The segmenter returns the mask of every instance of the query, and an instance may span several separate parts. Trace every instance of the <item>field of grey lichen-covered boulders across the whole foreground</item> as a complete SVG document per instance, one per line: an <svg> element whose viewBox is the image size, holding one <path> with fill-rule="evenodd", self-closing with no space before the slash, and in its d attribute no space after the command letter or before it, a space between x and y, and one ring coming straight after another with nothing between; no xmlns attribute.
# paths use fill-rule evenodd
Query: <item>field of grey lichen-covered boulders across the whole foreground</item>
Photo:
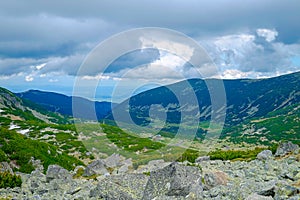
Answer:
<svg viewBox="0 0 300 200"><path fill-rule="evenodd" d="M156 160L137 170L130 159L113 154L74 172L51 165L45 175L37 167L21 174L21 188L0 189L0 199L299 200L299 160L299 147L292 143L281 144L275 155L265 150L250 162Z"/></svg>

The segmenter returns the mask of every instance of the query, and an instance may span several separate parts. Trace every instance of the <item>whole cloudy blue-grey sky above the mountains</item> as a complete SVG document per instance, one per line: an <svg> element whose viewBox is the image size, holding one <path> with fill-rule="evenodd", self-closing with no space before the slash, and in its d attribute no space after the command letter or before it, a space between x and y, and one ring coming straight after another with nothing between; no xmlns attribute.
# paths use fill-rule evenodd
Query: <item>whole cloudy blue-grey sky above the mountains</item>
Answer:
<svg viewBox="0 0 300 200"><path fill-rule="evenodd" d="M78 77L97 45L143 27L192 38L218 69L211 77L268 78L300 71L299 9L298 0L0 1L0 86L71 95L75 79L82 78L101 85L82 96L110 101L119 85L123 92L113 101L120 102L182 76L194 78L186 73L193 67L186 60L156 48L128 52L103 74Z"/></svg>

